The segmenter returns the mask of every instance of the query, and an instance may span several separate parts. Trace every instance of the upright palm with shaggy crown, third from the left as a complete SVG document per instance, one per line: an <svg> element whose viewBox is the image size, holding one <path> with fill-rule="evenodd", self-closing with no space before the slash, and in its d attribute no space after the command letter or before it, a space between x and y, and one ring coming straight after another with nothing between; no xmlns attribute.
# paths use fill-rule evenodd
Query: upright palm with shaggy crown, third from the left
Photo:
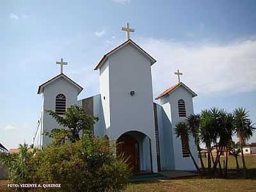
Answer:
<svg viewBox="0 0 256 192"><path fill-rule="evenodd" d="M211 143L214 140L214 130L212 129L212 118L211 113L209 110L204 109L201 112L201 118L200 118L200 141L202 143L205 143L205 146L207 147L207 157L208 157L208 169L211 169ZM212 157L213 161L213 157Z"/></svg>

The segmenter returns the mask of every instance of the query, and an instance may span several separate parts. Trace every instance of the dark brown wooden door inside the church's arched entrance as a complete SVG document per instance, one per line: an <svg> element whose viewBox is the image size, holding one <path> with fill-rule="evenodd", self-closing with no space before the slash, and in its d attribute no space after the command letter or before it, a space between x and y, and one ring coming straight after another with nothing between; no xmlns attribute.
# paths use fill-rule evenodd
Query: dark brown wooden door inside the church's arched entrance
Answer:
<svg viewBox="0 0 256 192"><path fill-rule="evenodd" d="M138 171L140 169L138 141L132 136L124 134L117 140L117 143L117 153L123 154L133 172Z"/></svg>

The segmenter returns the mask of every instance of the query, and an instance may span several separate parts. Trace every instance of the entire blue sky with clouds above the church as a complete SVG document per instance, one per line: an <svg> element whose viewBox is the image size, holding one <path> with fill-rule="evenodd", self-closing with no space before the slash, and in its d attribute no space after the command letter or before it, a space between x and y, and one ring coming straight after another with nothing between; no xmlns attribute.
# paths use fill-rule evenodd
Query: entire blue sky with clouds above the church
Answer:
<svg viewBox="0 0 256 192"><path fill-rule="evenodd" d="M256 122L255 1L22 1L0 2L0 143L32 143L42 102L38 85L64 72L99 93L93 67L105 52L131 38L157 63L154 96L182 81L198 93L195 112L243 106ZM256 142L254 135L251 142Z"/></svg>

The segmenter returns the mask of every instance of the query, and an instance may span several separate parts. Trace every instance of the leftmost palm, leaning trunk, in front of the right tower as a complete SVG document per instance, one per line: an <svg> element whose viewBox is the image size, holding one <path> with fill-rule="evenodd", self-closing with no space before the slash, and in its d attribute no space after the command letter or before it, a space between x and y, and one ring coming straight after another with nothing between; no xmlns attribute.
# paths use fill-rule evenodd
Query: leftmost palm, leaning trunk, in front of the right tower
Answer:
<svg viewBox="0 0 256 192"><path fill-rule="evenodd" d="M174 132L176 134L176 138L180 138L181 142L184 143L185 147L188 149L189 155L191 157L191 159L193 160L193 163L195 164L196 170L198 171L198 173L200 172L200 169L195 161L195 158L193 157L193 155L191 154L191 150L189 148L189 127L185 122L179 122L175 125L175 129Z"/></svg>

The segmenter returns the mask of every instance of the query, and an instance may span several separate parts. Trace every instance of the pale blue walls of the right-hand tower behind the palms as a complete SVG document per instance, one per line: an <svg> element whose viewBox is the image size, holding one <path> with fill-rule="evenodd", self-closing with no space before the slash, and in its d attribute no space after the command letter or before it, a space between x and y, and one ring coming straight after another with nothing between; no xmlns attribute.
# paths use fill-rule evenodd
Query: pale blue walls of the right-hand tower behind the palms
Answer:
<svg viewBox="0 0 256 192"><path fill-rule="evenodd" d="M179 116L179 99L183 99L185 102L186 115L189 116L190 114L194 114L192 95L188 92L188 90L186 90L182 86L180 86L179 88L177 88L177 90L171 92L169 95L161 99L164 112L166 113L166 116L168 116L172 124L174 168L175 170L195 170L195 165L193 164L191 157L182 157L182 147L180 138L176 138L174 134L175 125L180 121L186 120L186 117ZM195 161L198 162L197 150L193 138L190 139L189 146L191 149L191 153L195 158Z"/></svg>

